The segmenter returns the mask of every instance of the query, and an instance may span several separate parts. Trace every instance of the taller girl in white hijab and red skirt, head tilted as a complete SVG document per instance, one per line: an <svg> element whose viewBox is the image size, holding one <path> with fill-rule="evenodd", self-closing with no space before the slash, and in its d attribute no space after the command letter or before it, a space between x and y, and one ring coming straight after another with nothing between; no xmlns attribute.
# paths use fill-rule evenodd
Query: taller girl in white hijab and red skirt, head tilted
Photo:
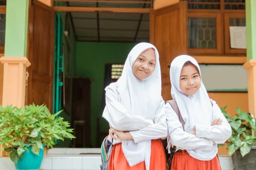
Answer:
<svg viewBox="0 0 256 170"><path fill-rule="evenodd" d="M113 148L108 170L166 170L161 138L167 136L161 96L159 54L154 45L137 44L122 76L106 91L103 117L109 122Z"/></svg>

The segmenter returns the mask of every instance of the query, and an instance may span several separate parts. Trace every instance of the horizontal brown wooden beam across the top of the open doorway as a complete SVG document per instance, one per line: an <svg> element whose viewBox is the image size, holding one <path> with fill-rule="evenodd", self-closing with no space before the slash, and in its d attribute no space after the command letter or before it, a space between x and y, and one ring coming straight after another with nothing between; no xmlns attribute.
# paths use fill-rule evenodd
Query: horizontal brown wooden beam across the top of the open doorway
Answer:
<svg viewBox="0 0 256 170"><path fill-rule="evenodd" d="M149 13L150 8L101 8L101 7L71 7L55 6L55 11L60 12L113 12L113 13Z"/></svg>

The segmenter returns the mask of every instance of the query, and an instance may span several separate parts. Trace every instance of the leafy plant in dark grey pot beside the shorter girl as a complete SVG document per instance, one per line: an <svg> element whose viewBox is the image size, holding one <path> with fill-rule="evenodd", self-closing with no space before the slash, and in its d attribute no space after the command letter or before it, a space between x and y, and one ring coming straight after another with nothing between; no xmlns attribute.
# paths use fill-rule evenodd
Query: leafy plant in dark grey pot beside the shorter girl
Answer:
<svg viewBox="0 0 256 170"><path fill-rule="evenodd" d="M256 124L253 114L245 113L236 108L237 115L233 118L221 108L232 128L232 136L227 140L227 150L232 155L235 170L253 170L256 167Z"/></svg>

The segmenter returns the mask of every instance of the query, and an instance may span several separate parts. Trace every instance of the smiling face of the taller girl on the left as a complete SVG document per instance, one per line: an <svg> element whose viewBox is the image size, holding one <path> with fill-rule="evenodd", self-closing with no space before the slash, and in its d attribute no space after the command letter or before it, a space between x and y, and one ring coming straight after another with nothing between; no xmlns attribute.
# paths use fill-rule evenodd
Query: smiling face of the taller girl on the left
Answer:
<svg viewBox="0 0 256 170"><path fill-rule="evenodd" d="M138 79L146 79L154 72L156 65L156 55L153 48L143 51L135 60L132 66L134 76Z"/></svg>

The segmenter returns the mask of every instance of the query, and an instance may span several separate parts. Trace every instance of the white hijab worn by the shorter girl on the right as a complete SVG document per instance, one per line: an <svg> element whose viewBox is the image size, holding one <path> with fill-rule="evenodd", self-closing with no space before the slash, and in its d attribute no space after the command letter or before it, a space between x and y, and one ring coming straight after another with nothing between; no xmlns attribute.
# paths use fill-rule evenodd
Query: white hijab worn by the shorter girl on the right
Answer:
<svg viewBox="0 0 256 170"><path fill-rule="evenodd" d="M199 71L201 77L201 88L196 94L188 96L180 91L180 73L185 62L190 61ZM176 100L180 114L185 122L184 130L195 130L195 125L212 125L212 104L207 94L206 88L202 81L201 71L198 62L191 56L181 55L176 57L171 64L170 69L171 78L171 94L172 98ZM215 156L218 148L215 150L187 150L189 155L196 158L209 158ZM215 154L214 154L215 153Z"/></svg>

